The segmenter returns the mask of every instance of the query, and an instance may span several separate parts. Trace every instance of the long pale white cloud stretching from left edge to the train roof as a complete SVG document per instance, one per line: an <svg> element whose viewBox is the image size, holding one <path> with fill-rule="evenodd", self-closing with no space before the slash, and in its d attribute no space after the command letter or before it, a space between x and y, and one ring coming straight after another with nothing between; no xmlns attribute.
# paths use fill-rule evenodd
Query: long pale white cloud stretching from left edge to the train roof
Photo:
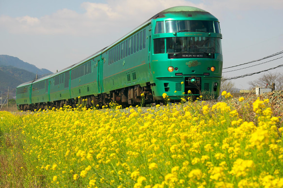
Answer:
<svg viewBox="0 0 283 188"><path fill-rule="evenodd" d="M40 18L0 16L0 27L12 33L39 35L89 36L130 31L158 12L178 5L204 7L202 3L194 4L186 0L143 0L143 3L140 0L107 0L106 4L83 2L83 14L62 9Z"/></svg>

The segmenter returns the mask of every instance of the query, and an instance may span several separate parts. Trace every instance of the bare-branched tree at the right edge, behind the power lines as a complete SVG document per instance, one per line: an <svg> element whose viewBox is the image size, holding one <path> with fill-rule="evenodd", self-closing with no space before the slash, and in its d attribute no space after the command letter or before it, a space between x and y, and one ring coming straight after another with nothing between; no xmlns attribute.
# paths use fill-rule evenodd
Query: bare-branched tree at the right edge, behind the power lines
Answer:
<svg viewBox="0 0 283 188"><path fill-rule="evenodd" d="M271 73L266 72L258 79L249 81L250 89L254 89L256 87L268 87L272 86L272 83L275 83L275 90L283 90L283 74L280 72Z"/></svg>

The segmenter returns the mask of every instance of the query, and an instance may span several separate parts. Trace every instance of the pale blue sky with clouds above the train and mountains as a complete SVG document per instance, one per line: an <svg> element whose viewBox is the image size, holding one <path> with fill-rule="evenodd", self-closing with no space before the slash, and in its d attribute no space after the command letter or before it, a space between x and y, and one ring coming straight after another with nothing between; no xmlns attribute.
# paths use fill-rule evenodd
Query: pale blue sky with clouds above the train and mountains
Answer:
<svg viewBox="0 0 283 188"><path fill-rule="evenodd" d="M109 46L155 14L194 6L220 22L223 68L283 51L283 0L0 0L0 55L52 72ZM238 77L283 64L283 55L223 69ZM268 63L265 63L270 61ZM283 73L283 67L270 72ZM238 89L263 73L231 79Z"/></svg>

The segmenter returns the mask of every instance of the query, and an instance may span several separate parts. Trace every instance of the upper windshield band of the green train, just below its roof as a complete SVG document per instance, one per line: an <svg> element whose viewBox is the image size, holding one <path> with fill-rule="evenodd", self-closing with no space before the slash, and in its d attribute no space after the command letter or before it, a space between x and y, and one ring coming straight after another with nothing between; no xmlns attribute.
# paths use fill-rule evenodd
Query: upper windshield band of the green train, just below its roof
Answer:
<svg viewBox="0 0 283 188"><path fill-rule="evenodd" d="M220 33L219 22L206 20L168 20L166 32L216 32ZM160 28L160 27L159 27Z"/></svg>

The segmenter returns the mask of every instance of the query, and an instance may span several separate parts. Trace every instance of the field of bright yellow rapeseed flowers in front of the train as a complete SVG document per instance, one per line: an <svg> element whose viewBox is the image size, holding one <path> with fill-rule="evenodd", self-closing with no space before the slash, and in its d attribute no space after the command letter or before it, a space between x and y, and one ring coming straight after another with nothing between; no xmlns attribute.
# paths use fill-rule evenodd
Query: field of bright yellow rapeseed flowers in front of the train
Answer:
<svg viewBox="0 0 283 188"><path fill-rule="evenodd" d="M0 112L0 187L280 188L268 99Z"/></svg>

